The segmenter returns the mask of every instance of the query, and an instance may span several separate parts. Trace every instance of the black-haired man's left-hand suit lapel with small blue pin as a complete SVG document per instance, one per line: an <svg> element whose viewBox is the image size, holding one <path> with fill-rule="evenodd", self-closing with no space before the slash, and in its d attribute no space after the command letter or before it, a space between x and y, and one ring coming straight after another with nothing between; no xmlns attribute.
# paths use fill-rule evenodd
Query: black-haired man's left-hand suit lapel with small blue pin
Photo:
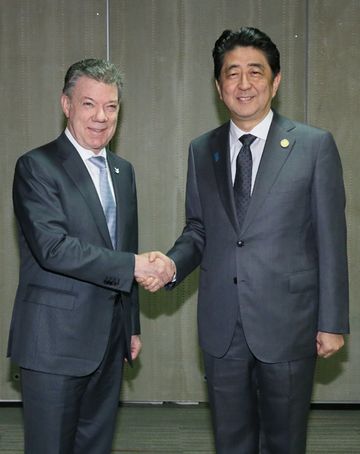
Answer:
<svg viewBox="0 0 360 454"><path fill-rule="evenodd" d="M210 144L210 149L220 199L231 224L238 232L239 224L236 217L231 178L229 127L230 123L228 122L218 128L217 133Z"/></svg>

